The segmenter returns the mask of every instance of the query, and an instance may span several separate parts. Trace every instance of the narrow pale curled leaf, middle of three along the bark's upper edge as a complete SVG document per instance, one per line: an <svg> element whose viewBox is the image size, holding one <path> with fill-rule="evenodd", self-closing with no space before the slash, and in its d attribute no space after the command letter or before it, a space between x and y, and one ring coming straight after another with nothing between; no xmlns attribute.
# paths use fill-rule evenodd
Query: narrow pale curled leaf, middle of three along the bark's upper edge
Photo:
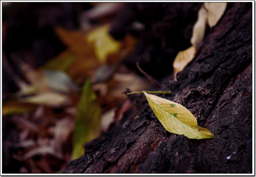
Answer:
<svg viewBox="0 0 256 177"><path fill-rule="evenodd" d="M207 10L202 6L198 11L197 22L193 27L193 35L190 39L191 44L199 50L200 44L204 39L205 27L207 25Z"/></svg>

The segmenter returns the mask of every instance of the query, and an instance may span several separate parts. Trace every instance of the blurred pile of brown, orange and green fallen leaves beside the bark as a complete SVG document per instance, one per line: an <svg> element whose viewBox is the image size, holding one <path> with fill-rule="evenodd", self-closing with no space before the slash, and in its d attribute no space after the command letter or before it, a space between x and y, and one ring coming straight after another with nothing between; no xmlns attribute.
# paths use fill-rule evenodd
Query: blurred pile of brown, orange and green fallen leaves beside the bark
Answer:
<svg viewBox="0 0 256 177"><path fill-rule="evenodd" d="M121 64L137 39L126 34L115 41L108 34L109 26L92 25L86 31L56 27L67 49L38 69L14 55L22 77L4 63L20 89L3 102L4 118L19 130L13 158L24 162L20 172L62 172L66 162L83 154L84 143L110 129L110 124L115 126L124 112L132 110L127 121L138 114L130 102L120 107L127 87L145 90L150 86ZM90 77L96 79L90 81ZM108 110L112 110L109 121L100 123L101 113Z"/></svg>

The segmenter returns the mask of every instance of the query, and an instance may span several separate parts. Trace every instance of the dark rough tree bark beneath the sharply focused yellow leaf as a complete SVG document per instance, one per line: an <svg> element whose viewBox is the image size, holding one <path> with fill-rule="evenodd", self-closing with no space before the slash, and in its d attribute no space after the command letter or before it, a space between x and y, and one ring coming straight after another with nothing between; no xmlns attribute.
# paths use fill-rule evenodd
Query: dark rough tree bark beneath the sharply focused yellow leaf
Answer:
<svg viewBox="0 0 256 177"><path fill-rule="evenodd" d="M162 89L172 94L160 96L184 105L216 138L170 134L146 105L124 128L87 144L64 172L252 173L252 3L228 3L177 79Z"/></svg>

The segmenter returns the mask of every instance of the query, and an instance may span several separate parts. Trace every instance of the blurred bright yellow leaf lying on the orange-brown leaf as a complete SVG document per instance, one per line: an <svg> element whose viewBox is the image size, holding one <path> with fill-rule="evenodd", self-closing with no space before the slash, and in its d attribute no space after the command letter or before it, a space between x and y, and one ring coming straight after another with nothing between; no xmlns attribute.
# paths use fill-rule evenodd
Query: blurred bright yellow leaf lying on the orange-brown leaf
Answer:
<svg viewBox="0 0 256 177"><path fill-rule="evenodd" d="M109 26L96 28L87 34L87 41L95 45L97 58L104 62L106 57L118 51L120 44L109 35Z"/></svg>

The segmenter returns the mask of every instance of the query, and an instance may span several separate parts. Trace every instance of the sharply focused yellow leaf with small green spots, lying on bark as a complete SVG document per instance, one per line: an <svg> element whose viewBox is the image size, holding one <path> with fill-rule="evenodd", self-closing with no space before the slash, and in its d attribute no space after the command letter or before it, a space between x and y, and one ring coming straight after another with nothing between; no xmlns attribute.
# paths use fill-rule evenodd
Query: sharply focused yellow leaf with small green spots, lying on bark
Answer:
<svg viewBox="0 0 256 177"><path fill-rule="evenodd" d="M146 92L143 93L156 117L167 131L184 135L190 139L215 137L206 128L198 126L195 116L181 104L147 94Z"/></svg>

